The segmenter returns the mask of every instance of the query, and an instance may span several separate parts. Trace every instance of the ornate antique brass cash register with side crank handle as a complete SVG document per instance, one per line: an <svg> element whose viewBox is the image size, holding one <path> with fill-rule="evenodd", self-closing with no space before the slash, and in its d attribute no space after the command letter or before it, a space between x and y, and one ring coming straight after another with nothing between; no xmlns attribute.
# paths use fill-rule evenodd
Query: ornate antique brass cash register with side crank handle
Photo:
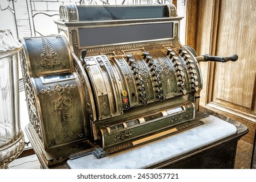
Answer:
<svg viewBox="0 0 256 182"><path fill-rule="evenodd" d="M181 45L174 5L61 5L59 15L59 34L20 40L26 132L46 166L204 125L199 62L238 59Z"/></svg>

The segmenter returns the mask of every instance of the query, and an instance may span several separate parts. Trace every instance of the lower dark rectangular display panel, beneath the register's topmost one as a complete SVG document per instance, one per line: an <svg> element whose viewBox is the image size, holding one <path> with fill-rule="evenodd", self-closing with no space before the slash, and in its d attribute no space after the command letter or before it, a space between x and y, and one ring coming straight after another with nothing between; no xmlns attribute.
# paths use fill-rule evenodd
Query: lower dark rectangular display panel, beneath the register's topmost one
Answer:
<svg viewBox="0 0 256 182"><path fill-rule="evenodd" d="M173 23L121 25L112 27L80 28L80 47L121 44L173 37Z"/></svg>

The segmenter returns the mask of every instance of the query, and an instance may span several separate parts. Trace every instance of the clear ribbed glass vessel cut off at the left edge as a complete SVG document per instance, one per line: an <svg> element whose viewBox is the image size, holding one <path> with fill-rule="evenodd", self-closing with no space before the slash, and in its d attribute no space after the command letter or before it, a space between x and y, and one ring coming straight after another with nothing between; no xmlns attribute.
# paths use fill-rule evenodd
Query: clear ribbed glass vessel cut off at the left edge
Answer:
<svg viewBox="0 0 256 182"><path fill-rule="evenodd" d="M20 127L18 51L22 44L8 30L0 30L0 169L24 149Z"/></svg>

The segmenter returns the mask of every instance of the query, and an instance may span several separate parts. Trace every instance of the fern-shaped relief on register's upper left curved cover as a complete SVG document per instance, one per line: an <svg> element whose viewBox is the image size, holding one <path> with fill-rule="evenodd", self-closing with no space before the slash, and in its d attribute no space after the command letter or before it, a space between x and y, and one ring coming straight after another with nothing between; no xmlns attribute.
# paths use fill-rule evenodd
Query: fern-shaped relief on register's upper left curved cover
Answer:
<svg viewBox="0 0 256 182"><path fill-rule="evenodd" d="M52 44L47 38L42 38L42 51L43 53L40 55L41 60L41 66L44 68L52 68L56 67L61 63L61 61L58 58L58 54L54 51L54 48L52 47Z"/></svg>

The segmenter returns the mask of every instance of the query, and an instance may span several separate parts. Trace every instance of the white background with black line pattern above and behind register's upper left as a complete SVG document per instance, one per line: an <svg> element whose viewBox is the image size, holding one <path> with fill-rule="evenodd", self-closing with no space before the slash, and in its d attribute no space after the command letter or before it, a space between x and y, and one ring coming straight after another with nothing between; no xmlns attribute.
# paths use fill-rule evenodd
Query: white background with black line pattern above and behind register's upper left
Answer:
<svg viewBox="0 0 256 182"><path fill-rule="evenodd" d="M178 0L181 1L181 0ZM131 5L171 3L172 0L0 0L0 29L10 29L17 38L57 34L54 19L59 5Z"/></svg>

